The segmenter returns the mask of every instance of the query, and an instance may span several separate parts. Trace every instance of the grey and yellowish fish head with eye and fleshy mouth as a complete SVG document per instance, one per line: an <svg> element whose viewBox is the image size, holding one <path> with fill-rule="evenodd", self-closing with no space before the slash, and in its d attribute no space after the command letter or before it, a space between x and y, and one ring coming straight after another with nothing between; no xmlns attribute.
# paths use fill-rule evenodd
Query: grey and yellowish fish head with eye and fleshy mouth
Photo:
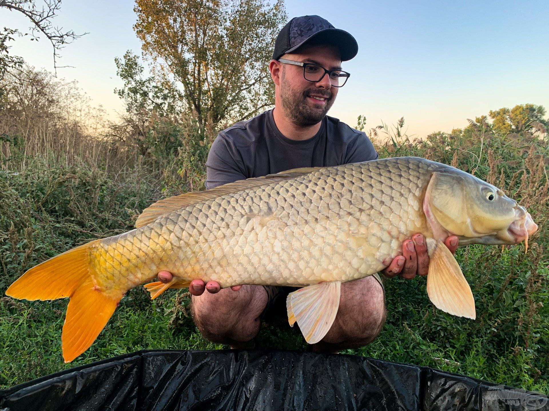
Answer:
<svg viewBox="0 0 549 411"><path fill-rule="evenodd" d="M537 230L517 201L461 170L433 173L423 209L435 239L456 235L460 245L518 244Z"/></svg>

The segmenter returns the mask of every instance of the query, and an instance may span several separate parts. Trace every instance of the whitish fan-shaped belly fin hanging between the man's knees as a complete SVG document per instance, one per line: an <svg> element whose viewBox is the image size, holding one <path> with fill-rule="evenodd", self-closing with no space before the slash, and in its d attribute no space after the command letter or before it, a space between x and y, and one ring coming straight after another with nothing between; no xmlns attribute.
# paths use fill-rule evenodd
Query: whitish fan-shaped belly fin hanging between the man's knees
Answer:
<svg viewBox="0 0 549 411"><path fill-rule="evenodd" d="M288 322L297 321L305 341L318 343L332 327L338 313L341 282L329 281L300 288L288 294Z"/></svg>

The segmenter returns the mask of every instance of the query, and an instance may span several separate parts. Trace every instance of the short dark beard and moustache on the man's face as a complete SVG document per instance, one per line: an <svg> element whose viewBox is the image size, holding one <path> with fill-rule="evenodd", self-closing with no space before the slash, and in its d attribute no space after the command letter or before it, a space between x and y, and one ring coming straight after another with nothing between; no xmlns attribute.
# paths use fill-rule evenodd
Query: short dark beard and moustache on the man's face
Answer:
<svg viewBox="0 0 549 411"><path fill-rule="evenodd" d="M326 98L324 107L315 107L315 105L311 104L307 100L311 94ZM320 122L326 116L335 100L335 97L332 97L332 92L317 87L307 88L301 93L296 92L290 87L287 81L284 81L284 73L282 73L280 96L284 115L299 127L310 127Z"/></svg>

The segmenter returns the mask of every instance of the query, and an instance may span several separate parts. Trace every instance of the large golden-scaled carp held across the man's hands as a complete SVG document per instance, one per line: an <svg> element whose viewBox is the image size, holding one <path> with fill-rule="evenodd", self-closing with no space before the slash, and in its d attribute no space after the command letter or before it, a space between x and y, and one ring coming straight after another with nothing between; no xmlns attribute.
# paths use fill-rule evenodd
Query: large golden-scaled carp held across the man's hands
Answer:
<svg viewBox="0 0 549 411"><path fill-rule="evenodd" d="M427 239L433 304L475 318L472 292L442 243L516 244L536 231L524 207L496 187L448 165L400 157L299 168L160 200L137 229L76 247L28 270L6 294L70 297L65 362L97 338L125 293L147 284L152 298L192 279L303 287L287 299L308 343L332 326L340 285L372 275L414 233Z"/></svg>

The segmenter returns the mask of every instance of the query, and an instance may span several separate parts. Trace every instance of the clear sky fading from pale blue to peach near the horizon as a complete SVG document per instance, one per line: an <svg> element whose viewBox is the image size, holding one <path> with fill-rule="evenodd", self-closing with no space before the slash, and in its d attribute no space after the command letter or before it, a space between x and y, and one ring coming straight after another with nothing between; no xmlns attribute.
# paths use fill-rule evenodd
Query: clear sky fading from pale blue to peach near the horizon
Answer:
<svg viewBox="0 0 549 411"><path fill-rule="evenodd" d="M37 1L40 4L40 1ZM141 52L130 0L64 0L54 25L88 34L61 50L58 77L76 80L111 118L124 111L114 58ZM538 1L287 1L288 19L318 14L350 32L358 55L328 115L355 127L396 124L410 136L463 128L467 118L517 104L549 110L549 2ZM0 9L0 25L24 30L22 15ZM53 71L46 41L16 38L10 53ZM267 67L265 68L267 70Z"/></svg>

